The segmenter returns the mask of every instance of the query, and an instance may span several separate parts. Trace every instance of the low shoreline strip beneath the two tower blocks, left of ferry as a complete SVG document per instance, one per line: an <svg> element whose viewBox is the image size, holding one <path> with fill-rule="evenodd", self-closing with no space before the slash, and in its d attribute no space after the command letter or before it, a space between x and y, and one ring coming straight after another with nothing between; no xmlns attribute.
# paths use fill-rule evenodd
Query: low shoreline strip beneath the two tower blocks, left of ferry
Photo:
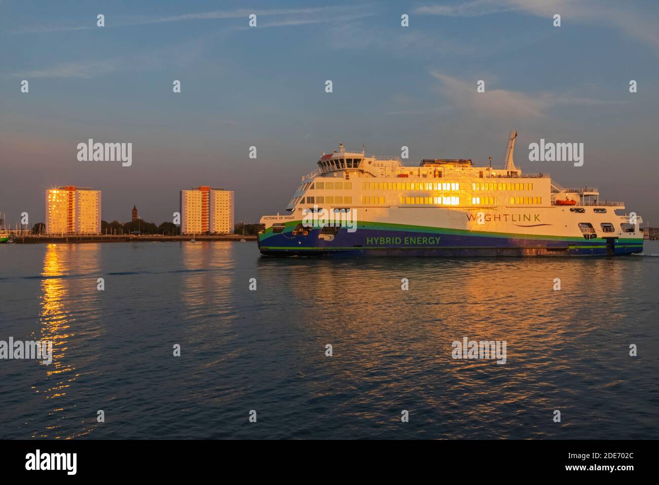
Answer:
<svg viewBox="0 0 659 485"><path fill-rule="evenodd" d="M142 236L114 236L110 234L96 235L69 235L69 236L14 236L17 244L39 243L109 243L109 242L182 242L191 241L256 241L256 236L242 236L241 234L215 234L202 236L158 236L158 234L144 234Z"/></svg>

